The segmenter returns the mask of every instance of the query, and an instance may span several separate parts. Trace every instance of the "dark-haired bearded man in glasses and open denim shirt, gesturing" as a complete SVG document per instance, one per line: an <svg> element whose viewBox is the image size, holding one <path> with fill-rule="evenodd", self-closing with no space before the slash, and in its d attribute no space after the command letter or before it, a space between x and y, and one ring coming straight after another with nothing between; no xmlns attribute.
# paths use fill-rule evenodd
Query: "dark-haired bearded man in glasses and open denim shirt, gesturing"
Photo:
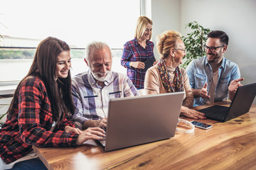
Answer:
<svg viewBox="0 0 256 170"><path fill-rule="evenodd" d="M193 60L186 69L195 106L233 99L240 81L238 64L223 55L228 48L228 35L221 30L208 33L205 57Z"/></svg>

